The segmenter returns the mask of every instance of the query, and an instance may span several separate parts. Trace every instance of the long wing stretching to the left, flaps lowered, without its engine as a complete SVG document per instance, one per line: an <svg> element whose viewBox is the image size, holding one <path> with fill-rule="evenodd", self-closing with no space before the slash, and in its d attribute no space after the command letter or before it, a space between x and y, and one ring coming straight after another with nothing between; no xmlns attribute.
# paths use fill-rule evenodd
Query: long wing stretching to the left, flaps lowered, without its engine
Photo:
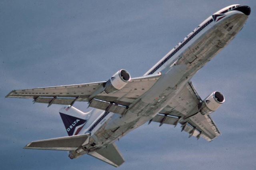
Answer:
<svg viewBox="0 0 256 170"><path fill-rule="evenodd" d="M114 103L128 106L150 89L159 79L160 74L148 75L131 79L121 90L106 93L106 81L77 85L42 87L35 89L13 90L6 97L34 99L36 103L73 105L75 101L91 101L90 107L99 108L99 104ZM92 100L97 99L97 100Z"/></svg>

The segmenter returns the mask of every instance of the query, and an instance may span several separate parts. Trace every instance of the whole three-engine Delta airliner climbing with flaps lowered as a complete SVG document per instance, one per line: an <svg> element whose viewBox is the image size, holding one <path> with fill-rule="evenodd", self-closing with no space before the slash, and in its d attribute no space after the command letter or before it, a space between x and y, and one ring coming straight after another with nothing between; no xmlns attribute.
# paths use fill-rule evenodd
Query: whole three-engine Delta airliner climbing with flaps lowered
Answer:
<svg viewBox="0 0 256 170"><path fill-rule="evenodd" d="M6 97L64 105L59 113L68 136L30 142L24 148L88 154L112 166L124 162L115 141L148 122L181 125L181 131L212 141L220 135L210 114L225 101L214 91L204 100L191 78L242 30L249 6L230 5L204 20L142 77L120 69L108 81L13 90ZM88 102L84 113L73 107Z"/></svg>

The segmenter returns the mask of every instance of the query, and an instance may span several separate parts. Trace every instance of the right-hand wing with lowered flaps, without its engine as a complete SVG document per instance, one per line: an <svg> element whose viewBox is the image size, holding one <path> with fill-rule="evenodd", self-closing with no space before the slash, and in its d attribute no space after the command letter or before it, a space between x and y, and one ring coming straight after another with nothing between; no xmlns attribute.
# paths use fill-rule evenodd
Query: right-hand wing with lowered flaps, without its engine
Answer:
<svg viewBox="0 0 256 170"><path fill-rule="evenodd" d="M220 131L210 115L200 113L198 109L200 103L202 103L202 99L192 83L189 82L176 99L160 111L152 121L160 123L160 126L163 124L176 126L180 123L182 131L188 132L189 137L199 138L202 136L210 142L220 135Z"/></svg>

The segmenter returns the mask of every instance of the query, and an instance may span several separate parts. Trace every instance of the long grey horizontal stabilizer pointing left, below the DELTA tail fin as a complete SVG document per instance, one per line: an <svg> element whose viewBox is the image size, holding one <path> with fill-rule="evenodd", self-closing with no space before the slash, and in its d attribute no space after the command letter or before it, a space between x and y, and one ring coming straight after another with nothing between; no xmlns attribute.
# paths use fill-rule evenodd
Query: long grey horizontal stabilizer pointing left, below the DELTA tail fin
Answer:
<svg viewBox="0 0 256 170"><path fill-rule="evenodd" d="M44 149L44 150L76 150L79 146L89 143L90 134L76 136L66 136L30 142L24 149Z"/></svg>

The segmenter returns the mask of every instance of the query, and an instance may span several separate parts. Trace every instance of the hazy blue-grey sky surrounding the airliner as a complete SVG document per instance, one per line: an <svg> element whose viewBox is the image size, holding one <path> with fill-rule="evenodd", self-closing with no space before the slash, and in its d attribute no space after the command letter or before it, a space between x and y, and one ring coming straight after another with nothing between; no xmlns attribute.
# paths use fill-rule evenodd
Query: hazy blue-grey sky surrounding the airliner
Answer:
<svg viewBox="0 0 256 170"><path fill-rule="evenodd" d="M4 98L13 89L90 83L127 69L143 75L214 12L231 4L252 13L243 30L192 79L205 98L226 102L212 114L222 133L212 142L180 128L143 125L116 142L126 162L118 169L254 169L256 167L256 2L0 1L0 168L105 169L88 155L24 150L28 142L67 136L58 110ZM87 103L75 107L86 111Z"/></svg>

